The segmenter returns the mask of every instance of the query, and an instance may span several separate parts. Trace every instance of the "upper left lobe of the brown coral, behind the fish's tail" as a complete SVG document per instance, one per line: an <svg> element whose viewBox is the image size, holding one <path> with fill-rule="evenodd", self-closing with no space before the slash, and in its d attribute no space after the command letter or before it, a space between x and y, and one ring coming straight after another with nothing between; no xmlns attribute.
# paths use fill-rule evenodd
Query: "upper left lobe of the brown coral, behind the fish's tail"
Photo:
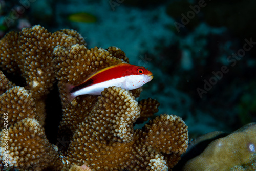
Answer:
<svg viewBox="0 0 256 171"><path fill-rule="evenodd" d="M53 49L57 45L67 47L76 43L84 44L84 40L76 31L67 29L50 33L35 25L19 33L9 32L0 40L0 67L21 72L27 89L33 91L33 98L40 99L49 93L55 81Z"/></svg>

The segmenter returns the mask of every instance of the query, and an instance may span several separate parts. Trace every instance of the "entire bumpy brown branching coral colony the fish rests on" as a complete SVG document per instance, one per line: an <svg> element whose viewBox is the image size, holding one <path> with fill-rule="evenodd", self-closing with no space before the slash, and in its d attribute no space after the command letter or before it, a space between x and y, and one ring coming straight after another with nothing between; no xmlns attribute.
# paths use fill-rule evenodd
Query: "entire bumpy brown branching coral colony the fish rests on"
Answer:
<svg viewBox="0 0 256 171"><path fill-rule="evenodd" d="M143 129L133 129L137 119L158 111L156 100L135 100L142 88L109 87L102 96L81 95L65 105L65 83L76 85L103 68L129 62L119 48L88 49L74 30L50 33L36 25L8 33L0 40L0 54L0 67L25 80L25 87L16 86L0 73L1 115L8 114L0 149L4 151L6 136L11 168L167 170L187 148L187 126L177 116L161 115ZM58 136L67 135L70 142L61 152L46 139L43 127L44 100L56 80L63 106Z"/></svg>

